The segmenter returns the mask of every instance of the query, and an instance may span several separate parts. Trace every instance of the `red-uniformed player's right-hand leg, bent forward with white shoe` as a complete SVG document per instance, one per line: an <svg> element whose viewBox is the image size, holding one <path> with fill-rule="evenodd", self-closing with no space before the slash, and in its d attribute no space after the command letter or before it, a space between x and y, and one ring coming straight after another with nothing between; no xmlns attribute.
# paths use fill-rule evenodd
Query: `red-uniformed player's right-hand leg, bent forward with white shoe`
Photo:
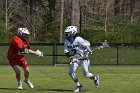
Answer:
<svg viewBox="0 0 140 93"><path fill-rule="evenodd" d="M27 62L24 62L23 66L22 66L23 70L24 70L24 82L30 87L30 88L34 88L34 85L30 82L29 80L29 66L27 64Z"/></svg>

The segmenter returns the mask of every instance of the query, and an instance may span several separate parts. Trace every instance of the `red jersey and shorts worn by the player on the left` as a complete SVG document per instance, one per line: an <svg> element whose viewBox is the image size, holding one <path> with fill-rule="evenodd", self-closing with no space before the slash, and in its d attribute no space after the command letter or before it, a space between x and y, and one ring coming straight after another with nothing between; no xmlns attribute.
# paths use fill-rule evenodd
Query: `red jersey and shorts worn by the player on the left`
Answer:
<svg viewBox="0 0 140 93"><path fill-rule="evenodd" d="M30 48L29 41L23 41L18 36L12 38L7 53L7 58L12 66L22 66L21 63L26 62L24 55L21 55L21 52L23 52L25 47Z"/></svg>

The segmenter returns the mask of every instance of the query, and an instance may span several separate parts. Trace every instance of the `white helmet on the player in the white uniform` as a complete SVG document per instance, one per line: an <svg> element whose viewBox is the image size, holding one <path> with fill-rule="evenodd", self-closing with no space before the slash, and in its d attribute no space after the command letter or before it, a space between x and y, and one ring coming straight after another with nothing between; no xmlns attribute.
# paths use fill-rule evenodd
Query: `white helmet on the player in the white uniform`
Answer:
<svg viewBox="0 0 140 93"><path fill-rule="evenodd" d="M65 30L66 37L74 36L77 33L77 27L76 26L68 26Z"/></svg>

